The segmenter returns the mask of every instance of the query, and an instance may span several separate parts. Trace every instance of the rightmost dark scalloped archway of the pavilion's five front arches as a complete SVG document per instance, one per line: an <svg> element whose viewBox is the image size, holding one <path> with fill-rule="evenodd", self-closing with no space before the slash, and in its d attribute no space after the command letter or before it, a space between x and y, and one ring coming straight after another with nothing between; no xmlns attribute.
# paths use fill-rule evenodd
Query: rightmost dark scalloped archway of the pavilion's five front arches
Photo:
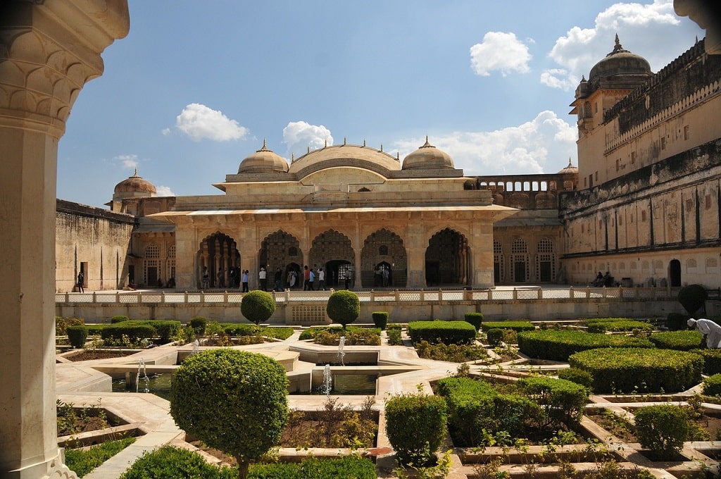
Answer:
<svg viewBox="0 0 721 479"><path fill-rule="evenodd" d="M450 228L433 235L425 250L428 286L469 284L470 250L463 234Z"/></svg>

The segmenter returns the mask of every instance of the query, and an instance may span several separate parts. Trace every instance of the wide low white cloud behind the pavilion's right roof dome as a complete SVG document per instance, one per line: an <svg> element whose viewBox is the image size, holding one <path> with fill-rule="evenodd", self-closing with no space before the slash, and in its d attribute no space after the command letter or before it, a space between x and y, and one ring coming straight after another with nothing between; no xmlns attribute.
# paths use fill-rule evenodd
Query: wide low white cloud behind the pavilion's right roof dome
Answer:
<svg viewBox="0 0 721 479"><path fill-rule="evenodd" d="M531 121L496 131L454 132L431 136L433 146L446 151L465 175L555 173L576 157L577 130L552 111ZM401 158L425 139L397 141ZM575 160L574 164L578 164Z"/></svg>

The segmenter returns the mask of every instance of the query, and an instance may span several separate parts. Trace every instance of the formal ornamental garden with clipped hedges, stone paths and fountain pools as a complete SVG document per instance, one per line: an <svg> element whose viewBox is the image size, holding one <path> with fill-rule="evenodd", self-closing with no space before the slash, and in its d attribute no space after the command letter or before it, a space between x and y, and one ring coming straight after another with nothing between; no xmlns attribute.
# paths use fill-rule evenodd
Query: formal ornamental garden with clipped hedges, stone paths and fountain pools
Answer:
<svg viewBox="0 0 721 479"><path fill-rule="evenodd" d="M681 291L695 317L703 293ZM262 325L274 308L254 291L237 323L58 317L68 467L95 479L718 473L721 351L684 315L399 324L358 317L358 296L335 291L332 325Z"/></svg>

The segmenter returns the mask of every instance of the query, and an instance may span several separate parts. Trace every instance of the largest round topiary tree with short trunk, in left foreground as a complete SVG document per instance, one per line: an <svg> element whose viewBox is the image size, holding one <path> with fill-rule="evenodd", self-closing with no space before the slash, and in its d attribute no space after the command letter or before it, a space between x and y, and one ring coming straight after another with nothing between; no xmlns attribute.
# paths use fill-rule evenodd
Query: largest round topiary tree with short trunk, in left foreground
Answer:
<svg viewBox="0 0 721 479"><path fill-rule="evenodd" d="M249 463L280 440L288 423L288 377L259 353L211 349L183 361L170 389L170 414L187 434Z"/></svg>

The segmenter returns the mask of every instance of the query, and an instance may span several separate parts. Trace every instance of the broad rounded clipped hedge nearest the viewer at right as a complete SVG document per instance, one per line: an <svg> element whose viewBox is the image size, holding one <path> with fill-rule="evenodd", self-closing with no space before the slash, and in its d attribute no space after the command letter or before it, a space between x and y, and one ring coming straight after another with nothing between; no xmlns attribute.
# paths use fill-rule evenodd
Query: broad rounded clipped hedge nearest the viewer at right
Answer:
<svg viewBox="0 0 721 479"><path fill-rule="evenodd" d="M686 351L597 348L569 357L593 376L595 392L679 392L701 382L704 359Z"/></svg>

